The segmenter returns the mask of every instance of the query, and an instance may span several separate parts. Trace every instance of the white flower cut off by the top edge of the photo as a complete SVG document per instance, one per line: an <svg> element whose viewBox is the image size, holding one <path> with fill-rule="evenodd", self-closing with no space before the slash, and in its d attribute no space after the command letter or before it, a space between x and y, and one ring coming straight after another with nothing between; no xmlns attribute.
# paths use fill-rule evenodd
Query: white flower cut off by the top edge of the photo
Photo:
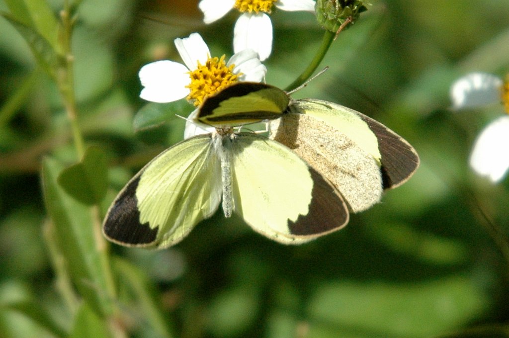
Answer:
<svg viewBox="0 0 509 338"><path fill-rule="evenodd" d="M242 12L235 23L233 49L253 49L261 61L272 51L272 22L266 13L272 6L284 11L315 12L314 0L202 0L198 7L204 14L204 22L212 23L232 8Z"/></svg>

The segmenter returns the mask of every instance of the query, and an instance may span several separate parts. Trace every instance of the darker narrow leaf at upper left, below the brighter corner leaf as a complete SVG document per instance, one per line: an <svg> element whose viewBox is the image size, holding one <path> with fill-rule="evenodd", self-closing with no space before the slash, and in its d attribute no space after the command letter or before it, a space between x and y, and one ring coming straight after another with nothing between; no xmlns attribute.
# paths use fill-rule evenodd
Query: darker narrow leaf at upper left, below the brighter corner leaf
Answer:
<svg viewBox="0 0 509 338"><path fill-rule="evenodd" d="M3 12L2 16L6 18L25 39L41 68L44 69L50 77L54 78L54 69L58 64L58 54L56 50L46 39L35 31L33 27L19 21L9 13Z"/></svg>

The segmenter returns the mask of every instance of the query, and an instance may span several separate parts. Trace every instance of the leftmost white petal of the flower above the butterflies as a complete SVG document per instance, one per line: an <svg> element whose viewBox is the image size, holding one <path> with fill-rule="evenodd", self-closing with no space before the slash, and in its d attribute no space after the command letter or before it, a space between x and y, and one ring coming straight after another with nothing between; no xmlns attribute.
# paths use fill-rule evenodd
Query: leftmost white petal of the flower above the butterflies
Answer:
<svg viewBox="0 0 509 338"><path fill-rule="evenodd" d="M145 87L139 96L152 102L172 102L189 94L190 78L186 66L169 61L156 61L139 70L139 80Z"/></svg>

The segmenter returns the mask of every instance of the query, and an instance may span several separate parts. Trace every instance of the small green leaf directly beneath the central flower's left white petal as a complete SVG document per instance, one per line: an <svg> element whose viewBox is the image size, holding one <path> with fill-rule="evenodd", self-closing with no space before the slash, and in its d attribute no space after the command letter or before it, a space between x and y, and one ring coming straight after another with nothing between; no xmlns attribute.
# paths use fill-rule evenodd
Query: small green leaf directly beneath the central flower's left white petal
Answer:
<svg viewBox="0 0 509 338"><path fill-rule="evenodd" d="M148 103L138 110L134 116L134 130L141 131L155 128L163 123L175 120L177 115L187 117L194 108L182 99L168 103Z"/></svg>

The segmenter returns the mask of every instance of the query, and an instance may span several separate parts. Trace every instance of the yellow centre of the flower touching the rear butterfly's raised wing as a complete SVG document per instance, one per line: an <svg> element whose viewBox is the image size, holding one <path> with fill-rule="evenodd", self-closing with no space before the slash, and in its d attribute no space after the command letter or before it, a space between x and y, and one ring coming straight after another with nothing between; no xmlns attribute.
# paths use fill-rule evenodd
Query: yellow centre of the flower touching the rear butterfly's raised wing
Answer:
<svg viewBox="0 0 509 338"><path fill-rule="evenodd" d="M198 63L198 67L189 72L191 83L186 86L190 90L187 100L197 107L202 104L207 96L238 82L242 73L234 74L234 67L235 65L227 67L224 62L224 55L220 59L217 57L209 58L205 65Z"/></svg>

